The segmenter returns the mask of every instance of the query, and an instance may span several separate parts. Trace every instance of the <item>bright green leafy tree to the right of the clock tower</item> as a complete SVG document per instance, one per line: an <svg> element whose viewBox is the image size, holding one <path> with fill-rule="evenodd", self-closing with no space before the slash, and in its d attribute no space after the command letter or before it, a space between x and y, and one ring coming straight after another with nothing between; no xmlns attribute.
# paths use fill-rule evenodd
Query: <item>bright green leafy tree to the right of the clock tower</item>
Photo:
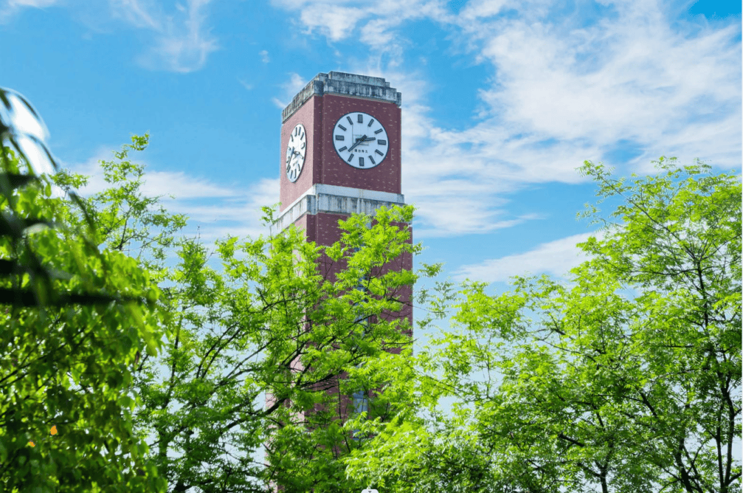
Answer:
<svg viewBox="0 0 743 493"><path fill-rule="evenodd" d="M665 173L632 183L600 164L580 169L599 202L624 199L610 216L623 223L597 220L603 237L579 244L591 260L571 284L516 277L501 296L463 284L461 330L433 341L406 388L409 402L428 391L459 406L413 420L423 439L410 446L410 425L377 426L346 460L352 477L399 492L432 481L447 491L469 481L473 492L740 489L740 179L656 164ZM451 286L434 298L440 318ZM463 464L475 474L458 477Z"/></svg>

